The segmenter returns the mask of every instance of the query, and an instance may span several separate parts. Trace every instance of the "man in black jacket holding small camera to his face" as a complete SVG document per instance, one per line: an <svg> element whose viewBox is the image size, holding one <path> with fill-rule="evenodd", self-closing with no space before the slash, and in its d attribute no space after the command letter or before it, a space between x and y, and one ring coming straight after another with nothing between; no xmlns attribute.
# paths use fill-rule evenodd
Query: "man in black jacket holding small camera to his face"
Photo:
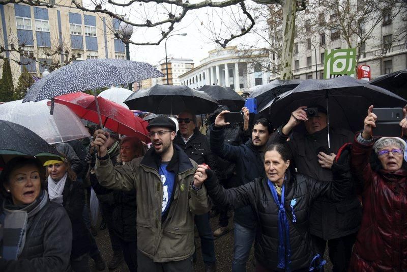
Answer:
<svg viewBox="0 0 407 272"><path fill-rule="evenodd" d="M307 116L304 111L307 106L300 106L292 113L287 124L273 133L269 144L285 144L299 173L319 181L332 181L331 167L335 154L343 144L353 142L354 134L348 130L331 128L331 147L328 148L327 111L319 105L311 107L317 107L317 116ZM305 132L295 131L290 137L294 127L301 123L305 126ZM347 270L361 215L361 205L354 190L350 190L346 199L339 203L319 197L312 204L309 228L315 250L323 256L328 241L333 271Z"/></svg>

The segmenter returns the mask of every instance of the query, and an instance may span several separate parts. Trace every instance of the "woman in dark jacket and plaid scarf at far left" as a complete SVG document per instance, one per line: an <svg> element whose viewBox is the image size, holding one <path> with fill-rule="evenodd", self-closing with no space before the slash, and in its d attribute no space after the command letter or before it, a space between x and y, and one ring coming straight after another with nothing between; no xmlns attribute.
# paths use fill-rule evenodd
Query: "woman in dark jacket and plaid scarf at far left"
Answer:
<svg viewBox="0 0 407 272"><path fill-rule="evenodd" d="M0 271L71 271L71 222L48 200L44 172L39 160L16 157L0 176Z"/></svg>

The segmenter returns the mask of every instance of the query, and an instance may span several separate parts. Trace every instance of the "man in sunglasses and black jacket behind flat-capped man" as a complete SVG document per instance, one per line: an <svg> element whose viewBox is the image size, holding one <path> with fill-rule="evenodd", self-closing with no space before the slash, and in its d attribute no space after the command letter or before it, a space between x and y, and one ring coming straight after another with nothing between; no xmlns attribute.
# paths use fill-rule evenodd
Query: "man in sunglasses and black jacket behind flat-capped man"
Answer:
<svg viewBox="0 0 407 272"><path fill-rule="evenodd" d="M174 139L177 144L189 158L197 164L208 164L215 169L215 158L211 154L208 138L199 132L196 127L196 115L190 111L184 111L179 114L179 130ZM195 215L195 224L198 229L203 262L205 262L206 272L216 270L215 244L209 222L209 212L202 215Z"/></svg>

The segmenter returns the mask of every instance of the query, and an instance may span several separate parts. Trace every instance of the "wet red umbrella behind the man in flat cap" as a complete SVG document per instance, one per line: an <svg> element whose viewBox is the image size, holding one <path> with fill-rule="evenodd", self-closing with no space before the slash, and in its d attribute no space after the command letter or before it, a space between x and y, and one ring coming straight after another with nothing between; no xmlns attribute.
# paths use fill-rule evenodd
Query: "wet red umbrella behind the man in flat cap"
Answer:
<svg viewBox="0 0 407 272"><path fill-rule="evenodd" d="M54 101L67 105L81 119L99 123L96 100L93 95L81 92L71 93L56 96ZM149 124L147 121L134 116L132 111L122 105L103 97L98 97L98 104L104 127L126 136L136 136L146 143L150 142L150 138L147 136L147 125Z"/></svg>

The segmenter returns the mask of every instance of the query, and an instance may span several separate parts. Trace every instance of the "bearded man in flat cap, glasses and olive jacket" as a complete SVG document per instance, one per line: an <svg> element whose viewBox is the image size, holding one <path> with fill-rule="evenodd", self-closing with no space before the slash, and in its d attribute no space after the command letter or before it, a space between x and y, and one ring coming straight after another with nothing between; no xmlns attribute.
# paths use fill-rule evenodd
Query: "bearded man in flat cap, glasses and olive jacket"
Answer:
<svg viewBox="0 0 407 272"><path fill-rule="evenodd" d="M194 186L197 164L172 144L176 124L159 116L147 129L153 147L143 157L115 168L106 152L109 134L98 134L95 172L104 187L136 189L137 270L193 271L194 214L210 210L207 191L205 186Z"/></svg>

